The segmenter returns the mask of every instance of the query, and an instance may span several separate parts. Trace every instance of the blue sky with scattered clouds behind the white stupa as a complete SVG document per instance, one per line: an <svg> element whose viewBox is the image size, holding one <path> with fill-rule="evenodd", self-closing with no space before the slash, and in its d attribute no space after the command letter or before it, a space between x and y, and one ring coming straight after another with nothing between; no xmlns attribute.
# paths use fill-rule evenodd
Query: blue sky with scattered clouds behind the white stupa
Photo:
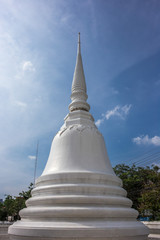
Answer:
<svg viewBox="0 0 160 240"><path fill-rule="evenodd" d="M159 23L159 0L0 0L0 198L33 181L38 140L37 176L44 169L68 113L78 32L112 165L159 163Z"/></svg>

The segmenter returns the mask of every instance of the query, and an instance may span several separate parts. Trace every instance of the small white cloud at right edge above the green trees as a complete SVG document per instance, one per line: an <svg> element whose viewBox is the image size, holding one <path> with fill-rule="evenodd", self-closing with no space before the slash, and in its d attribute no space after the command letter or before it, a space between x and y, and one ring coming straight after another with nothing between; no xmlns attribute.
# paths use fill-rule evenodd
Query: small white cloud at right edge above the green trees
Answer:
<svg viewBox="0 0 160 240"><path fill-rule="evenodd" d="M132 139L132 141L138 145L154 145L154 146L160 146L160 137L154 136L152 138L149 138L148 135L142 135L139 137L135 137Z"/></svg>

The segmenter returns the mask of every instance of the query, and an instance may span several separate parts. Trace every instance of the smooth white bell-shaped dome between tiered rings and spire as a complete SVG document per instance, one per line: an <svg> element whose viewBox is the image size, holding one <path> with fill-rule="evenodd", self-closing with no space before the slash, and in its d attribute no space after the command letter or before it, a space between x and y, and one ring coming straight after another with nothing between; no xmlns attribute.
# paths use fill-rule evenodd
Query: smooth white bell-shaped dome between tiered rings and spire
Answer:
<svg viewBox="0 0 160 240"><path fill-rule="evenodd" d="M77 110L69 113L53 139L42 176L57 172L114 174L103 136L89 112Z"/></svg>

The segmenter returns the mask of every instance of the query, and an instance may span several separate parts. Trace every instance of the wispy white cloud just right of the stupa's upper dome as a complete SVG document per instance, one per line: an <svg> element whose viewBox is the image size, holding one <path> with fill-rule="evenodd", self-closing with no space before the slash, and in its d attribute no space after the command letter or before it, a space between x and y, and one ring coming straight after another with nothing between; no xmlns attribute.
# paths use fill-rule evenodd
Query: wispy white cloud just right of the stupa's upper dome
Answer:
<svg viewBox="0 0 160 240"><path fill-rule="evenodd" d="M122 107L117 105L115 108L108 110L105 114L102 114L102 118L98 119L95 124L97 127L99 127L104 122L104 120L109 120L111 117L118 117L122 120L125 120L126 116L129 114L131 107L131 104L126 104Z"/></svg>

